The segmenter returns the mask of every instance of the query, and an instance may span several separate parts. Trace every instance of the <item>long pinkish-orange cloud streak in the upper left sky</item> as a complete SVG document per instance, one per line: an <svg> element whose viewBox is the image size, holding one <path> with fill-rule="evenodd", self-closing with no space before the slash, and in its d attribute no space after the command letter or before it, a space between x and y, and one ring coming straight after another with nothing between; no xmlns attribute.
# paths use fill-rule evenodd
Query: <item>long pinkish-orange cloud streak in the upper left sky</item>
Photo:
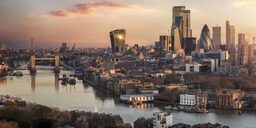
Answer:
<svg viewBox="0 0 256 128"><path fill-rule="evenodd" d="M105 7L111 10L115 9L124 9L124 8L133 8L135 7L132 4L114 4L111 2L98 2L98 3L83 3L83 4L76 4L73 9L70 10L58 10L52 11L48 14L42 15L44 16L53 16L53 17L73 17L77 14L89 15L95 12L98 7Z"/></svg>

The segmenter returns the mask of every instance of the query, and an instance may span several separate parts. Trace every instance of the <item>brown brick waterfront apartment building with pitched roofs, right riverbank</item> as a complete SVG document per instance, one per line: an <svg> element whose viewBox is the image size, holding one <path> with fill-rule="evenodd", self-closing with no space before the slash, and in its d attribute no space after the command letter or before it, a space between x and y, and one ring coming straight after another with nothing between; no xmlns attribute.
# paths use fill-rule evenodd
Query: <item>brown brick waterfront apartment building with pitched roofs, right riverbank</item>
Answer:
<svg viewBox="0 0 256 128"><path fill-rule="evenodd" d="M240 89L226 89L219 90L215 95L215 105L216 107L230 107L233 108L233 102L235 99L241 99L244 97L244 92Z"/></svg>

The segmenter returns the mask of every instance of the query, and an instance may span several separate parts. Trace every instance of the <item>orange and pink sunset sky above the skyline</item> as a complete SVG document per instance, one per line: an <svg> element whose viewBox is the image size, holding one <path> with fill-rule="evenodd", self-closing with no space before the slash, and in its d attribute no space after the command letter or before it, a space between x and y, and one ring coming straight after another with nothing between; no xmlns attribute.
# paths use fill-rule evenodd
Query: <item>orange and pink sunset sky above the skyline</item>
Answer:
<svg viewBox="0 0 256 128"><path fill-rule="evenodd" d="M172 6L191 10L192 36L199 39L206 24L236 27L245 38L256 37L256 0L0 0L0 43L7 47L107 47L109 32L126 29L126 43L154 45L169 35Z"/></svg>

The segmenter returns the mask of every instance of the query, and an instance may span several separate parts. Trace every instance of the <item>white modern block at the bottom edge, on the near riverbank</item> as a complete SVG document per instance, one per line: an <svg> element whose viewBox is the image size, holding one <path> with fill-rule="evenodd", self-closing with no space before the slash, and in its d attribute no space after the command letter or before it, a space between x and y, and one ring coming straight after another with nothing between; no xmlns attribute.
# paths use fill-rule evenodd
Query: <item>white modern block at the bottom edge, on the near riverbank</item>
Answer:
<svg viewBox="0 0 256 128"><path fill-rule="evenodd" d="M173 125L172 112L154 112L153 128L168 128Z"/></svg>

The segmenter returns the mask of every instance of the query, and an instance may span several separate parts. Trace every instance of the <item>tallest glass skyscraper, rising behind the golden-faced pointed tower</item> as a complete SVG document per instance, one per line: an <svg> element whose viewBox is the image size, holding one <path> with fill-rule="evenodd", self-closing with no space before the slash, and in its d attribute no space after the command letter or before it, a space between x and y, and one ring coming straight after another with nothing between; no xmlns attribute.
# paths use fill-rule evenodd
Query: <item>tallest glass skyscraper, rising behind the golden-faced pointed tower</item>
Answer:
<svg viewBox="0 0 256 128"><path fill-rule="evenodd" d="M185 6L173 6L173 23L176 17L181 17L183 20L183 38L191 37L190 29L190 10L186 10Z"/></svg>

